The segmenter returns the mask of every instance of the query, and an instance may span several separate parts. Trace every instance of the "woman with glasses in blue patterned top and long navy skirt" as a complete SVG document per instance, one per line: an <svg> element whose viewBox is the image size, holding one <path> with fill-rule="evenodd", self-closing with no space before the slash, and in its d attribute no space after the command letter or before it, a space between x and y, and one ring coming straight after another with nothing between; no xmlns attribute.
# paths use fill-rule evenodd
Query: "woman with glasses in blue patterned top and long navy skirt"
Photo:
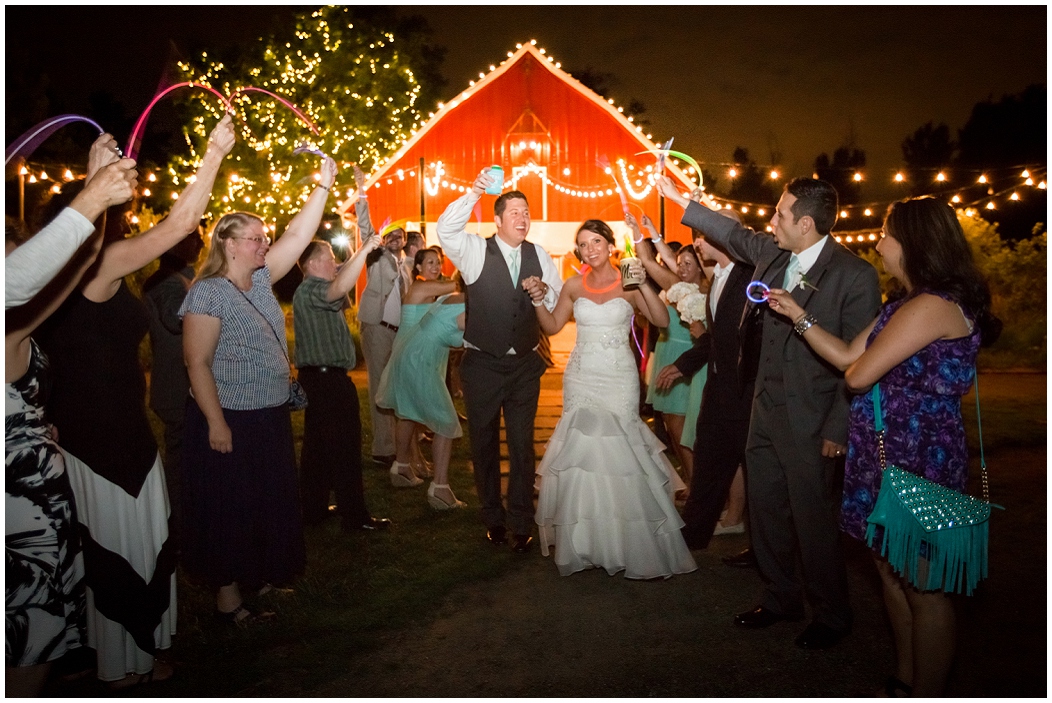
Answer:
<svg viewBox="0 0 1052 703"><path fill-rule="evenodd" d="M216 616L236 624L254 617L241 587L265 592L305 564L285 317L270 286L318 230L336 163L326 158L321 170L272 246L259 217L221 218L180 310L193 395L183 556L187 569L217 589Z"/></svg>

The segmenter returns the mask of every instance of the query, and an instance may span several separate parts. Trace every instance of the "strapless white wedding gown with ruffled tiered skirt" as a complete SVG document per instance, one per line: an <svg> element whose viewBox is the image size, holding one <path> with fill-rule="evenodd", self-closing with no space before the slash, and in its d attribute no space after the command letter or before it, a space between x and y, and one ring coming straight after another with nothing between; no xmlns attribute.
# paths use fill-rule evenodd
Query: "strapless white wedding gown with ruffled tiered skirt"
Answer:
<svg viewBox="0 0 1052 703"><path fill-rule="evenodd" d="M563 576L602 567L653 579L697 568L672 499L685 486L640 419L632 315L622 298L573 303L578 340L563 376L563 417L537 469L541 550L554 546Z"/></svg>

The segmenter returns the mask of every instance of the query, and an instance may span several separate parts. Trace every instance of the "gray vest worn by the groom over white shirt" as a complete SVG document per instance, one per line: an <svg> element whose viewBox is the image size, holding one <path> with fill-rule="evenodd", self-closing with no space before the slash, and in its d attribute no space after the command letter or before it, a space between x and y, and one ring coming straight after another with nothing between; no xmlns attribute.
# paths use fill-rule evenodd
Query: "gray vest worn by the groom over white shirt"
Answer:
<svg viewBox="0 0 1052 703"><path fill-rule="evenodd" d="M541 278L541 261L530 242L523 242L519 250L519 281L512 285L497 239L487 239L482 274L467 286L464 340L494 357L510 348L526 354L538 343L537 313L522 282L530 276Z"/></svg>

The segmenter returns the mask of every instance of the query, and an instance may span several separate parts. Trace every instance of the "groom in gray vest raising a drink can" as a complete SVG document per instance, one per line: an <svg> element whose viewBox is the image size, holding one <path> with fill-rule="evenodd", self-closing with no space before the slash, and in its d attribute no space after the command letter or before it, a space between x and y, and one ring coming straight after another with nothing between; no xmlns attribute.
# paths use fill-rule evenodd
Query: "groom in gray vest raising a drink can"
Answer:
<svg viewBox="0 0 1052 703"><path fill-rule="evenodd" d="M446 208L438 222L439 242L467 286L461 381L486 537L504 544L510 528L512 549L526 553L533 541L533 420L546 365L537 353L537 314L522 284L540 278L546 286L541 304L551 310L563 281L548 253L525 241L530 219L522 193L505 193L493 203L495 236L465 230L490 183L487 168ZM507 509L501 497L502 411L510 463Z"/></svg>

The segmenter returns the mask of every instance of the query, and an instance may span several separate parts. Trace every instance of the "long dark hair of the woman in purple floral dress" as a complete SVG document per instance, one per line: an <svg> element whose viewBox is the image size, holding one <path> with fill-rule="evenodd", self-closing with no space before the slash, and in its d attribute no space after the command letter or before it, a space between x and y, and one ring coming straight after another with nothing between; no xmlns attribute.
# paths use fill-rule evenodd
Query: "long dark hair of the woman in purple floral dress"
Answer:
<svg viewBox="0 0 1052 703"><path fill-rule="evenodd" d="M903 272L912 295L947 294L975 319L983 345L993 344L1003 323L990 313L990 286L954 209L931 197L901 200L888 208L884 232L903 247Z"/></svg>

